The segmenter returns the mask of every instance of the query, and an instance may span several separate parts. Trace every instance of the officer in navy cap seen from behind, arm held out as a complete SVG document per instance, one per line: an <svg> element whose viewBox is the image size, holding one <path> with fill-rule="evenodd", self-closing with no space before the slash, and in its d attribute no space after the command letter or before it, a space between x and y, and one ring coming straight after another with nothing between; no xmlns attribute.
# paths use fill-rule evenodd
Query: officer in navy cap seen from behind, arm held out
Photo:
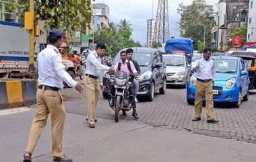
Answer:
<svg viewBox="0 0 256 162"><path fill-rule="evenodd" d="M37 110L32 122L28 145L24 154L24 162L31 162L31 155L38 143L38 138L51 116L53 161L72 161L63 154L63 129L65 123L65 108L59 89L63 88L63 81L82 93L83 87L74 81L65 71L61 53L58 48L62 42L62 32L53 29L49 32L47 47L38 55L38 91L36 93Z"/></svg>

